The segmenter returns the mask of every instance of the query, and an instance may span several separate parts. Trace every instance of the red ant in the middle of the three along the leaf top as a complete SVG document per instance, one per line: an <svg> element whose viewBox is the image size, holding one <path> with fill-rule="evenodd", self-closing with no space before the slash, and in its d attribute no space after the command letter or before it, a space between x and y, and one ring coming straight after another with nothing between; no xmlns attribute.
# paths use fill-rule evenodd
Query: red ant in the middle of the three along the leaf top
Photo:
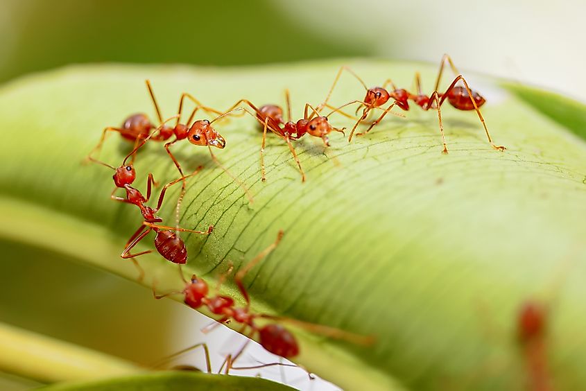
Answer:
<svg viewBox="0 0 586 391"><path fill-rule="evenodd" d="M330 146L328 137L329 133L341 132L342 134L344 134L344 128L334 128L334 126L332 126L328 122L328 117L334 112L340 112L340 110L335 109L331 113L327 114L327 116L320 116L320 112L318 112L316 108L314 108L311 104L306 103L303 118L297 122L293 122L291 120L291 100L289 98L289 92L287 89L285 90L285 98L287 104L286 122L284 122L283 119L282 108L277 105L264 105L258 108L247 99L241 99L240 101L234 103L232 107L230 107L230 110L233 110L234 107L238 107L242 103L248 105L250 108L252 108L252 110L255 111L256 116L248 112L248 110L245 111L248 112L248 114L255 116L257 121L259 121L259 123L264 126L261 144L261 180L263 182L266 181L266 170L264 167L264 148L266 145L267 129L277 134L278 137L281 137L286 141L289 150L291 150L291 155L293 155L293 158L295 159L295 162L297 163L297 166L301 173L301 182L305 182L305 173L303 171L303 168L301 167L299 157L297 156L297 153L295 153L295 148L293 147L293 144L291 144L291 140L298 140L305 134L309 134L313 137L319 137L320 139L322 139L324 145L327 147ZM347 115L345 113L342 114Z"/></svg>

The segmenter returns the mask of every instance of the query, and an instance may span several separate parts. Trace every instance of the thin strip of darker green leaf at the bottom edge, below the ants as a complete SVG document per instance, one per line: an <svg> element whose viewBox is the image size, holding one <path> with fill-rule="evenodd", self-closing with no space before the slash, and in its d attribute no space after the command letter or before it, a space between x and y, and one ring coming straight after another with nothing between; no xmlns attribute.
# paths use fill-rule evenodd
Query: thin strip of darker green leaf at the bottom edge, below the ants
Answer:
<svg viewBox="0 0 586 391"><path fill-rule="evenodd" d="M65 390L293 390L286 385L275 383L266 379L242 376L222 376L191 372L159 372L154 374L141 374L126 376L116 379L106 379L89 382L62 383L42 388L46 391Z"/></svg>

